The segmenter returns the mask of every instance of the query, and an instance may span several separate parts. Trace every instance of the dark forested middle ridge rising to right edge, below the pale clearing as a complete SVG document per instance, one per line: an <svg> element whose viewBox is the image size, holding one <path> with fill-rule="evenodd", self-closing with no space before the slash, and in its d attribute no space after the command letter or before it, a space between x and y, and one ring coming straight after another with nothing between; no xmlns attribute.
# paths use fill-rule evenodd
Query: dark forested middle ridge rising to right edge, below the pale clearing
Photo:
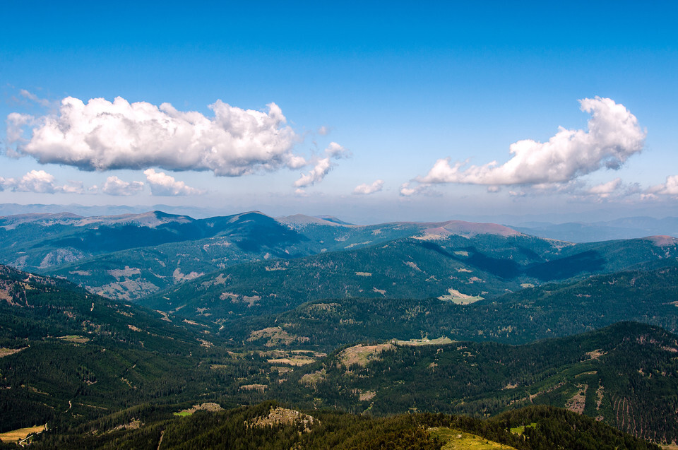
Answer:
<svg viewBox="0 0 678 450"><path fill-rule="evenodd" d="M348 298L302 304L283 314L225 322L224 336L240 340L278 325L305 345L331 350L357 341L429 336L528 343L571 336L623 320L678 331L678 266L595 276L576 283L528 288L468 305L438 299Z"/></svg>

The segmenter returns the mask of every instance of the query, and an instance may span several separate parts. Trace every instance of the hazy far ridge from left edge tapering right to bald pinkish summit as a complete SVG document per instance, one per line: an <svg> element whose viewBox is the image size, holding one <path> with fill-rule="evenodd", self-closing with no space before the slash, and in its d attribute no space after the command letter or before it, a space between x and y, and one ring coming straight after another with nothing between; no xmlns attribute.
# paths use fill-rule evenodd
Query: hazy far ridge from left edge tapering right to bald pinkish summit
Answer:
<svg viewBox="0 0 678 450"><path fill-rule="evenodd" d="M101 295L136 299L249 261L293 259L405 237L480 234L518 233L460 221L350 225L306 215L275 220L258 211L204 219L162 211L91 217L32 213L0 218L0 263L58 275Z"/></svg>

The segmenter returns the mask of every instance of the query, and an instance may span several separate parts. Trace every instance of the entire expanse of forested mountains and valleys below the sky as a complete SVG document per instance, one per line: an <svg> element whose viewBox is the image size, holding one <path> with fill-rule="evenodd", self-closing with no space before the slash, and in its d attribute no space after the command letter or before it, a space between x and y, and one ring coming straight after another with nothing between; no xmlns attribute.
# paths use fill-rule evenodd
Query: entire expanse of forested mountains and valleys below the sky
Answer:
<svg viewBox="0 0 678 450"><path fill-rule="evenodd" d="M431 448L447 429L516 449L678 441L674 237L154 211L7 216L0 243L0 440L47 422L37 448L182 448L222 425L256 442L231 421L283 415L374 417L364 439ZM378 419L402 413L441 415ZM271 439L308 429L292 445L315 448L326 431L304 420Z"/></svg>

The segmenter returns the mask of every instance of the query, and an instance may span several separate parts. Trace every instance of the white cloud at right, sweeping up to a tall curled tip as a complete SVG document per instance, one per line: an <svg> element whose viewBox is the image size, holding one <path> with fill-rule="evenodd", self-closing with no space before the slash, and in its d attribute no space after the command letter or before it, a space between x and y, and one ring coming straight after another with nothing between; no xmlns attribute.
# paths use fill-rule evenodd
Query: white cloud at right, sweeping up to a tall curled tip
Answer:
<svg viewBox="0 0 678 450"><path fill-rule="evenodd" d="M492 186L562 183L602 167L617 170L643 149L646 132L624 105L601 97L580 103L581 110L591 114L588 131L560 127L548 142L518 141L511 144L511 159L502 165L492 161L465 167L468 162L451 164L450 158L440 159L415 181Z"/></svg>

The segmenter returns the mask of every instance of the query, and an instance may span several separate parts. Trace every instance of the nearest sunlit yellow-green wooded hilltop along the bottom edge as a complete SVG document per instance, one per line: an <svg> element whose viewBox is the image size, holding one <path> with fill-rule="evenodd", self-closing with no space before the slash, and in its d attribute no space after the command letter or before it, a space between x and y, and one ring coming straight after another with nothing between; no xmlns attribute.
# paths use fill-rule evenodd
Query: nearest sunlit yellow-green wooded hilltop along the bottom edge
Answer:
<svg viewBox="0 0 678 450"><path fill-rule="evenodd" d="M104 434L45 432L36 449L420 449L644 450L659 446L569 411L530 407L482 420L458 415L389 418L294 410L265 402L184 418L136 410L144 425ZM129 413L128 413L129 415ZM522 432L518 428L522 425ZM511 431L513 430L513 431Z"/></svg>

